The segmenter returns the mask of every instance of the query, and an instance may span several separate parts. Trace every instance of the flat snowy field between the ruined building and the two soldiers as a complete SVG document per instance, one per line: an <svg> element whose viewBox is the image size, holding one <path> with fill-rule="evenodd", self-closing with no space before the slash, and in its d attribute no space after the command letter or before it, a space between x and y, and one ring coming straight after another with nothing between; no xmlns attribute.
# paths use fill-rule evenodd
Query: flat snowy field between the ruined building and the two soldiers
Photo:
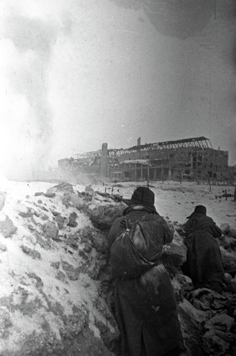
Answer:
<svg viewBox="0 0 236 356"><path fill-rule="evenodd" d="M145 182L146 183L146 182ZM116 186L122 185L122 187ZM124 198L130 198L136 187L142 185L140 182L116 183L114 194L121 194ZM94 185L93 189L111 193L112 183L106 183L104 186ZM76 186L76 189L84 190L84 186ZM117 191L119 189L119 191ZM211 192L208 184L197 185L195 182L165 181L151 182L150 189L155 193L155 206L158 213L162 216L168 216L172 221L184 223L196 205L205 205L207 215L211 216L217 225L229 223L233 229L236 229L236 203L234 197L228 197L227 200L222 197L215 199L215 196L222 195L227 189L227 193L234 194L232 186L211 186Z"/></svg>

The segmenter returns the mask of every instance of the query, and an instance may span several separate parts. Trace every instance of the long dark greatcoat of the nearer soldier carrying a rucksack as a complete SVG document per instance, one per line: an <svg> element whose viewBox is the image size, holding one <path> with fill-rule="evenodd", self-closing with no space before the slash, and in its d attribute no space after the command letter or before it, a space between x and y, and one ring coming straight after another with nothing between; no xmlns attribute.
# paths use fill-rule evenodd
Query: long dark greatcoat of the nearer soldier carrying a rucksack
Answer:
<svg viewBox="0 0 236 356"><path fill-rule="evenodd" d="M145 210L128 208L125 218L135 222L145 214L150 215ZM124 217L116 219L110 229L109 248L123 231L120 226L122 219ZM172 241L173 233L161 216L155 214L153 219L159 223L153 239L158 241L161 256L163 244ZM161 261L141 277L116 279L114 284L122 356L143 355L141 338L148 356L161 356L178 347L181 331L177 304L171 281Z"/></svg>

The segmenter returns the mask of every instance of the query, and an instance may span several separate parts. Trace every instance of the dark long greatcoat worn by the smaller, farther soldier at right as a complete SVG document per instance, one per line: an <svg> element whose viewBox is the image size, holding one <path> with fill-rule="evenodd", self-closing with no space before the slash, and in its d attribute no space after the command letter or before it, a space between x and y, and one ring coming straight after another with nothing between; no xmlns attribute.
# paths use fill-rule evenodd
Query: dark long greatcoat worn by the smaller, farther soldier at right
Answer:
<svg viewBox="0 0 236 356"><path fill-rule="evenodd" d="M194 288L207 287L211 281L224 281L224 267L216 238L222 232L209 216L194 213L185 224L187 261L182 266Z"/></svg>

